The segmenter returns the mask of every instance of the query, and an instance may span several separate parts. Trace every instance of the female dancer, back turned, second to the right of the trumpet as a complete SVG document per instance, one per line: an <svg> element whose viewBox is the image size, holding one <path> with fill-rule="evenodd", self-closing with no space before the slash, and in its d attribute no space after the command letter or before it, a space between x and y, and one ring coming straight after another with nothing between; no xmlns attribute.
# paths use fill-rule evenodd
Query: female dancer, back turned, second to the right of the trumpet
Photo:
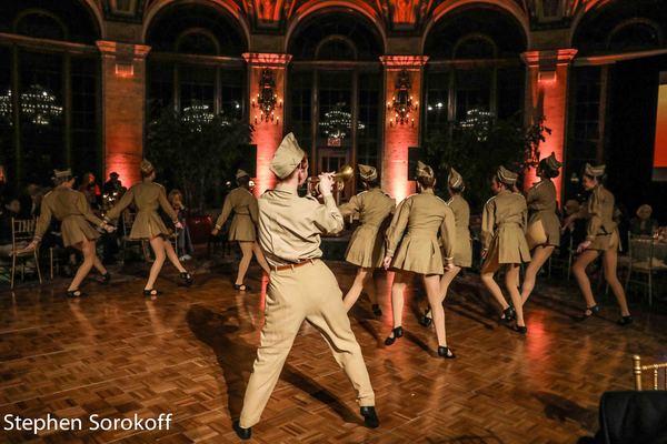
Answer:
<svg viewBox="0 0 667 444"><path fill-rule="evenodd" d="M404 334L401 326L404 292L412 273L417 273L424 280L428 302L434 311L438 355L454 359L455 354L447 346L440 276L445 271L451 269L454 262L456 225L451 209L444 200L434 194L435 184L434 170L418 162L417 188L419 194L412 194L401 202L397 215L387 230L387 253L384 266L385 269L391 266L396 270L396 275L391 285L394 329L391 335L385 340L385 345L394 344ZM404 236L406 229L407 233ZM438 245L438 231L442 238L444 253Z"/></svg>

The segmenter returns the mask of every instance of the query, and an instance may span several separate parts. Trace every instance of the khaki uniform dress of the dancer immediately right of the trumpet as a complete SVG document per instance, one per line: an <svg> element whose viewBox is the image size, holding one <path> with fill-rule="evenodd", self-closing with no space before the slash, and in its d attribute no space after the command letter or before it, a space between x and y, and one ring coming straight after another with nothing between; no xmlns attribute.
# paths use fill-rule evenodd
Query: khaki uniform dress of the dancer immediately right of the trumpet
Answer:
<svg viewBox="0 0 667 444"><path fill-rule="evenodd" d="M339 206L344 216L359 213L361 223L350 238L345 253L346 261L365 269L382 266L385 232L395 208L396 200L379 188L354 195L349 202Z"/></svg>

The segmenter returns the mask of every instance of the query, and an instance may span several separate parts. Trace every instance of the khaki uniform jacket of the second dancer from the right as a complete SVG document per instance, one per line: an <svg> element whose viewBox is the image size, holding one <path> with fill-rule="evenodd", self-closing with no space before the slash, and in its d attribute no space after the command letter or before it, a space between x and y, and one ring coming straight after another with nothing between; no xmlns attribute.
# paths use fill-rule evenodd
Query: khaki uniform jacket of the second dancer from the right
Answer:
<svg viewBox="0 0 667 444"><path fill-rule="evenodd" d="M560 245L560 220L556 214L556 185L548 179L532 185L526 194L528 236L537 245ZM541 228L539 226L541 224ZM545 240L546 235L546 240Z"/></svg>

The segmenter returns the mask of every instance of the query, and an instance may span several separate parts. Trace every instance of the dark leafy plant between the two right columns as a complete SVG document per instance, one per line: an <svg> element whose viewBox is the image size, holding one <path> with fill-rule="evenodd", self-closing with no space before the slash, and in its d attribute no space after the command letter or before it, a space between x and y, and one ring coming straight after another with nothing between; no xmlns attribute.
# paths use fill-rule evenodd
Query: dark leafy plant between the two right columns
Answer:
<svg viewBox="0 0 667 444"><path fill-rule="evenodd" d="M427 163L436 169L438 189L446 190L449 168L466 183L465 196L474 212L491 195L490 179L499 165L522 172L539 159L545 133L544 118L521 127L516 120L477 117L464 124L449 124L425 142Z"/></svg>

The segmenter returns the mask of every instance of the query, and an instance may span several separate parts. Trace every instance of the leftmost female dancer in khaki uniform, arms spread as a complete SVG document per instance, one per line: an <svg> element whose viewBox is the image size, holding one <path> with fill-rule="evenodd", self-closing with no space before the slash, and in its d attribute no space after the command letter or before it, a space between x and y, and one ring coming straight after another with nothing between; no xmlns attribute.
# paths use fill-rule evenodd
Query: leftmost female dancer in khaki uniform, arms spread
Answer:
<svg viewBox="0 0 667 444"><path fill-rule="evenodd" d="M73 246L83 253L83 263L77 270L74 279L72 279L67 289L69 297L80 297L84 294L79 290L79 286L93 266L102 274L104 283L111 279L111 275L97 255L94 245L100 234L90 224L99 226L109 233L115 229L92 214L86 195L72 189L76 179L72 176L71 170L53 170L53 172L56 189L44 195L42 200L41 214L34 229L34 239L28 244L27 249L32 250L37 248L49 229L51 218L59 220L61 222L62 244L66 248Z"/></svg>

